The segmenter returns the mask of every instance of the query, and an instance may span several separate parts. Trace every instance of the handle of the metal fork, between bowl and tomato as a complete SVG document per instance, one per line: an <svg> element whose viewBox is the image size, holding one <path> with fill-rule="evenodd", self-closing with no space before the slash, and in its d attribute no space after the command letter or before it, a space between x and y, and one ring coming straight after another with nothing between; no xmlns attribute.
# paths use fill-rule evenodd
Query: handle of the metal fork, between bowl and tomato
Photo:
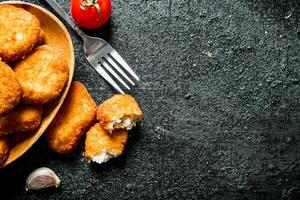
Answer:
<svg viewBox="0 0 300 200"><path fill-rule="evenodd" d="M78 33L83 40L85 39L86 34L78 28L78 26L70 18L69 14L55 0L45 1Z"/></svg>

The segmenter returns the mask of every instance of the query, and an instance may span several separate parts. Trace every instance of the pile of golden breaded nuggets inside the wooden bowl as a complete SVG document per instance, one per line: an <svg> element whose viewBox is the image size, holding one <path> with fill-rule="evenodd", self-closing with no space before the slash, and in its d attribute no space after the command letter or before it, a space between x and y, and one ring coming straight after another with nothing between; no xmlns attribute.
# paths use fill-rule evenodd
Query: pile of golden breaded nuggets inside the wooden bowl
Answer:
<svg viewBox="0 0 300 200"><path fill-rule="evenodd" d="M8 157L10 135L37 129L43 105L68 80L67 61L46 40L36 16L0 4L0 164Z"/></svg>

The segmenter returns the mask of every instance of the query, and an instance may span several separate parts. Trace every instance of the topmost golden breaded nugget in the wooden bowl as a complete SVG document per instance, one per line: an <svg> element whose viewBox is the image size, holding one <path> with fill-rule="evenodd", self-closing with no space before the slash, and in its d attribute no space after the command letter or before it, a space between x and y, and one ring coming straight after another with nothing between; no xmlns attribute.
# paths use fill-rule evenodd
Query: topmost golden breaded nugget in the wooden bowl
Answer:
<svg viewBox="0 0 300 200"><path fill-rule="evenodd" d="M32 51L41 32L39 20L30 12L0 5L0 58L16 61Z"/></svg>

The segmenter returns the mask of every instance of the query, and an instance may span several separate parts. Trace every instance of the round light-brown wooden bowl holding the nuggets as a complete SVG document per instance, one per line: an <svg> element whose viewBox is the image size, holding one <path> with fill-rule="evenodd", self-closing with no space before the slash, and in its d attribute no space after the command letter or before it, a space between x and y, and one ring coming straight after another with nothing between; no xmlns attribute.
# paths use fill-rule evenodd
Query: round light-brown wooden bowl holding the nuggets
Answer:
<svg viewBox="0 0 300 200"><path fill-rule="evenodd" d="M66 27L59 19L57 19L57 17L55 17L46 9L31 3L18 1L8 1L1 3L21 7L34 14L39 19L41 27L45 32L45 43L62 54L65 58L67 58L69 66L69 79L60 97L56 101L44 106L43 119L38 130L30 133L11 135L12 144L10 154L6 162L2 166L0 166L0 168L9 165L21 155L23 155L45 132L45 130L57 114L64 99L66 98L74 73L73 44Z"/></svg>

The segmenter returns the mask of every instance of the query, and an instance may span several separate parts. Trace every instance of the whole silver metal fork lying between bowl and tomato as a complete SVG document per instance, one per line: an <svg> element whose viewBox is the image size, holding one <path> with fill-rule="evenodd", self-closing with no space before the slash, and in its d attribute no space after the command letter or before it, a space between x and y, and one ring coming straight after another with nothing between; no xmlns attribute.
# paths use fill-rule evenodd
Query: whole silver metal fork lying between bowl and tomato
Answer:
<svg viewBox="0 0 300 200"><path fill-rule="evenodd" d="M123 90L106 71L108 71L115 79L117 79L127 90L130 90L130 87L115 72L115 70L117 70L118 73L122 75L132 86L134 86L135 83L126 75L122 68L125 69L127 73L129 73L137 81L140 80L126 63L126 61L115 49L110 46L110 44L101 38L90 37L86 35L77 27L66 11L56 1L45 1L78 33L83 40L85 58L92 65L92 67L118 92L124 94Z"/></svg>

